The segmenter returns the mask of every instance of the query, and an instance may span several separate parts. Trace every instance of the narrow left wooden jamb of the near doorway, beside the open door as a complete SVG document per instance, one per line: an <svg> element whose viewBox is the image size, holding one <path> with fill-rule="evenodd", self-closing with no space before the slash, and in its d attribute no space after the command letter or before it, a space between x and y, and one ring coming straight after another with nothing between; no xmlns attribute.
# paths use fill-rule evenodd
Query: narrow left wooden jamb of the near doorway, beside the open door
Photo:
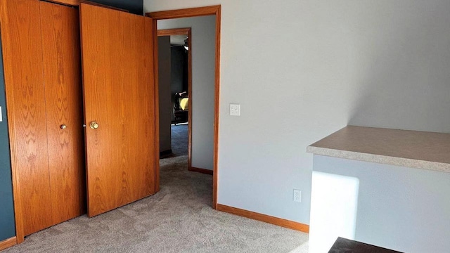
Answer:
<svg viewBox="0 0 450 253"><path fill-rule="evenodd" d="M160 191L160 99L159 99L159 77L158 77L158 20L153 19L153 82L155 89L155 193Z"/></svg>

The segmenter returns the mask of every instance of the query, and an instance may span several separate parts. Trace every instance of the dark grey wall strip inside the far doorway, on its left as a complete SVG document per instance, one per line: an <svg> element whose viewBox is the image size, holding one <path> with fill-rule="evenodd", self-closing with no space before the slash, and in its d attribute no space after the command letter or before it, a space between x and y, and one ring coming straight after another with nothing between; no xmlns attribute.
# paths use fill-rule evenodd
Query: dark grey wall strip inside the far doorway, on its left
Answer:
<svg viewBox="0 0 450 253"><path fill-rule="evenodd" d="M170 95L170 37L158 37L158 89L160 104L160 152L172 148L172 101Z"/></svg>

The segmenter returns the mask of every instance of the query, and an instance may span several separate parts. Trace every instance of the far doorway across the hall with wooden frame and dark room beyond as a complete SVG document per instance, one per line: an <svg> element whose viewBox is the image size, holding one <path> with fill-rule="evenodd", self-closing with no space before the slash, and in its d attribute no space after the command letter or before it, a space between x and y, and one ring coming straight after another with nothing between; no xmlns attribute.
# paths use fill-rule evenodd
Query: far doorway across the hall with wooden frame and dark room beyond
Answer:
<svg viewBox="0 0 450 253"><path fill-rule="evenodd" d="M158 30L160 158L192 154L191 28ZM170 125L170 127L169 127Z"/></svg>

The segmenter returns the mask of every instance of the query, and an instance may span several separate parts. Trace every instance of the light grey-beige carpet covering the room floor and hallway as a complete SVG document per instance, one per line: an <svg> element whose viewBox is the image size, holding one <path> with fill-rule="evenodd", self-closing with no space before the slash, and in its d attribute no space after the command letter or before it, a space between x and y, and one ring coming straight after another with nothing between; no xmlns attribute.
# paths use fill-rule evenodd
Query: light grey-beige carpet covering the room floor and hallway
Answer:
<svg viewBox="0 0 450 253"><path fill-rule="evenodd" d="M161 190L94 218L34 233L12 252L307 252L308 235L211 208L212 176L161 160Z"/></svg>

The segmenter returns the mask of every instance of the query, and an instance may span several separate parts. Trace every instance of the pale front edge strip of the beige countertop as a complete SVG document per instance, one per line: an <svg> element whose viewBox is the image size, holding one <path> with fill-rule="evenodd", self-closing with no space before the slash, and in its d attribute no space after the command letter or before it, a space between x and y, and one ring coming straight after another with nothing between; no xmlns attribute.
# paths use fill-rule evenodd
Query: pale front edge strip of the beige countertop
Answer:
<svg viewBox="0 0 450 253"><path fill-rule="evenodd" d="M387 155L374 155L347 150L337 150L332 148L320 148L315 147L313 145L309 145L307 147L307 153L312 153L314 155L324 155L329 157L338 157L349 160L358 160L363 162L375 162L379 164L390 164L399 167L410 167L415 169L426 169L431 171L441 171L450 173L450 164L442 162L430 162L403 157L390 157Z"/></svg>

